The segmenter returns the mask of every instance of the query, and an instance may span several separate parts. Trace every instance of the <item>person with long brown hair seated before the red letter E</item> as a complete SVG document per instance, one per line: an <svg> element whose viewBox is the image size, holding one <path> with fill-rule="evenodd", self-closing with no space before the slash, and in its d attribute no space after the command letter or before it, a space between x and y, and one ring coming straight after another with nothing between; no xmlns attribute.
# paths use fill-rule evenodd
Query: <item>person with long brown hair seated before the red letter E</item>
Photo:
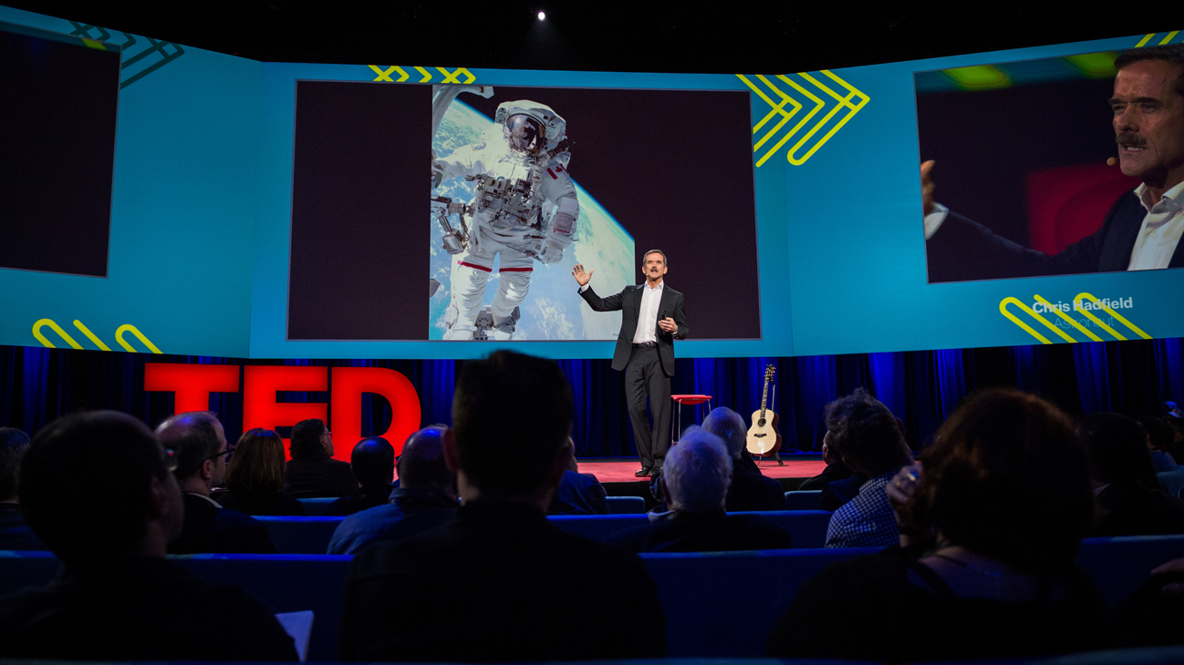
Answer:
<svg viewBox="0 0 1184 665"><path fill-rule="evenodd" d="M247 430L226 466L226 491L212 498L246 515L304 515L300 501L284 493L284 440L271 430Z"/></svg>

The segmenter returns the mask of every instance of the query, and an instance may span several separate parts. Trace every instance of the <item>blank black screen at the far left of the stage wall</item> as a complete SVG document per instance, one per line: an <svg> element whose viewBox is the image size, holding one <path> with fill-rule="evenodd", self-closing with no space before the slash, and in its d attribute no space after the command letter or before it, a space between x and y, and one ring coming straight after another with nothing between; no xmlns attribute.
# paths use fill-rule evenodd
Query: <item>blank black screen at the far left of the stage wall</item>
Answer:
<svg viewBox="0 0 1184 665"><path fill-rule="evenodd" d="M0 267L107 276L120 53L0 32Z"/></svg>

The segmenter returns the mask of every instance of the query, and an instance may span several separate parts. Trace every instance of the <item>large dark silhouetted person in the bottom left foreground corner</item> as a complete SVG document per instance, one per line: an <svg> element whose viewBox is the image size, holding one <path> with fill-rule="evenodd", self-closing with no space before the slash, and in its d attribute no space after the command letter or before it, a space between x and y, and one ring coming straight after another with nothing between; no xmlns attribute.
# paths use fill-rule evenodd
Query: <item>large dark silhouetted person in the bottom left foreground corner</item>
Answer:
<svg viewBox="0 0 1184 665"><path fill-rule="evenodd" d="M175 459L144 424L111 411L38 433L20 501L63 568L50 586L0 600L0 658L296 660L259 601L166 561L185 510Z"/></svg>

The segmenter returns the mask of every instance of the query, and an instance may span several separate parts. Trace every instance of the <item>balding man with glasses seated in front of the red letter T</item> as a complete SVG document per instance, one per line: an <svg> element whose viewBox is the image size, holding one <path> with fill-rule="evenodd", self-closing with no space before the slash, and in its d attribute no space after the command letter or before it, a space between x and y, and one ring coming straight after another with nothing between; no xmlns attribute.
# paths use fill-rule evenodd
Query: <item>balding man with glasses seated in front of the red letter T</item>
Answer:
<svg viewBox="0 0 1184 665"><path fill-rule="evenodd" d="M185 499L185 527L168 544L169 554L276 553L262 522L210 498L210 489L226 478L231 453L214 414L192 411L169 417L156 427L156 439L176 454L173 473Z"/></svg>

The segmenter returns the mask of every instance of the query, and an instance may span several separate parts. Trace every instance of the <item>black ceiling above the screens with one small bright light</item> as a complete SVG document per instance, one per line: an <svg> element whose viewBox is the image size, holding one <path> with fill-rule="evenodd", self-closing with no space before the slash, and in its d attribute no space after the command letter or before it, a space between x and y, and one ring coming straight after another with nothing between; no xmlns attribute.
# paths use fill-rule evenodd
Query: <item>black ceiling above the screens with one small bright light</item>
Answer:
<svg viewBox="0 0 1184 665"><path fill-rule="evenodd" d="M0 2L257 60L641 72L815 71L1184 27L1178 9L1031 1Z"/></svg>

